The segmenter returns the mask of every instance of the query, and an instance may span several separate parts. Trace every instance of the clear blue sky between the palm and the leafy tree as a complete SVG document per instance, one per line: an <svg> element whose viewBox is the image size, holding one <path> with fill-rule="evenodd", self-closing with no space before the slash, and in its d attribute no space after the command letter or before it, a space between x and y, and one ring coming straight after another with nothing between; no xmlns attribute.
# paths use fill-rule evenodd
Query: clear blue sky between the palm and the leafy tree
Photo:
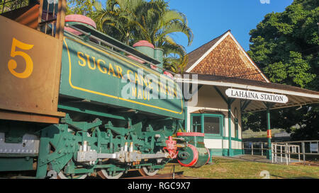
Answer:
<svg viewBox="0 0 319 193"><path fill-rule="evenodd" d="M265 3L262 4L262 1ZM256 28L267 13L282 12L292 2L293 0L169 0L170 8L186 15L194 33L193 43L189 47L185 35L179 33L173 37L189 53L231 30L247 51L250 30Z"/></svg>

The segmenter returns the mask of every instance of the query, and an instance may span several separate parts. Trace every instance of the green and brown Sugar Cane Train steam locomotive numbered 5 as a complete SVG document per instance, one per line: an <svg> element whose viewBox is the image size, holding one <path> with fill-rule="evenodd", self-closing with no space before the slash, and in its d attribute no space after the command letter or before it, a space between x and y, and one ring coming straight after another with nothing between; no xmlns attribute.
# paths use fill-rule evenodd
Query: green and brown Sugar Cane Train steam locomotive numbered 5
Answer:
<svg viewBox="0 0 319 193"><path fill-rule="evenodd" d="M207 163L203 134L177 132L184 98L163 74L162 49L129 47L65 16L65 0L48 2L0 16L1 174L112 179L155 175L173 159Z"/></svg>

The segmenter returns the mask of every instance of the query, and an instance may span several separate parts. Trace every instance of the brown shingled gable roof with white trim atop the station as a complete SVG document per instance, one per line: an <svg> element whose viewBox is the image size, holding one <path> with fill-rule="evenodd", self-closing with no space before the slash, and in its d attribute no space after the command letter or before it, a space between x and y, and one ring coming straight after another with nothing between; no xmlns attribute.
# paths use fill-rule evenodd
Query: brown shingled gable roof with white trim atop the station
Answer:
<svg viewBox="0 0 319 193"><path fill-rule="evenodd" d="M188 55L187 73L270 82L235 40L230 30Z"/></svg>

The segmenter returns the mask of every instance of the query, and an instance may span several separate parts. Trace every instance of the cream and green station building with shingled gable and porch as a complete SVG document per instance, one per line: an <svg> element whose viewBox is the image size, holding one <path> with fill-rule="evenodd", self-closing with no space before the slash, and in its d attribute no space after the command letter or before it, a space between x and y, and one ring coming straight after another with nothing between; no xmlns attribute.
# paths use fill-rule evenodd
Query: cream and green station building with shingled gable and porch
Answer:
<svg viewBox="0 0 319 193"><path fill-rule="evenodd" d="M184 74L177 78L191 85L184 88L192 96L185 107L185 127L205 133L204 143L212 156L244 153L243 113L267 111L270 142L271 110L319 103L319 92L271 83L230 30L188 55Z"/></svg>

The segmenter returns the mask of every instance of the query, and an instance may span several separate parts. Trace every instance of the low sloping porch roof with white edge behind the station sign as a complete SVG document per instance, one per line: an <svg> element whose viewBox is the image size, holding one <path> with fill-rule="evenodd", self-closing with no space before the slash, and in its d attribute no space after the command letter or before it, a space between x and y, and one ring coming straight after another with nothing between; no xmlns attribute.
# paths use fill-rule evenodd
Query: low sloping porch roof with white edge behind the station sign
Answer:
<svg viewBox="0 0 319 193"><path fill-rule="evenodd" d="M194 75L195 77L197 76L197 78L194 78ZM197 83L198 85L216 86L217 89L222 90L221 94L223 94L224 98L228 98L228 96L225 95L225 90L227 88L239 88L243 90L280 94L288 97L288 103L272 103L272 107L270 107L271 110L319 103L319 92L279 83L265 83L262 81L252 81L242 78L229 78L207 74L184 74L183 76L179 76L175 79L177 82L182 83ZM264 101L241 100L243 102L250 101L250 103L246 103L247 105L242 112L267 110L267 103Z"/></svg>

